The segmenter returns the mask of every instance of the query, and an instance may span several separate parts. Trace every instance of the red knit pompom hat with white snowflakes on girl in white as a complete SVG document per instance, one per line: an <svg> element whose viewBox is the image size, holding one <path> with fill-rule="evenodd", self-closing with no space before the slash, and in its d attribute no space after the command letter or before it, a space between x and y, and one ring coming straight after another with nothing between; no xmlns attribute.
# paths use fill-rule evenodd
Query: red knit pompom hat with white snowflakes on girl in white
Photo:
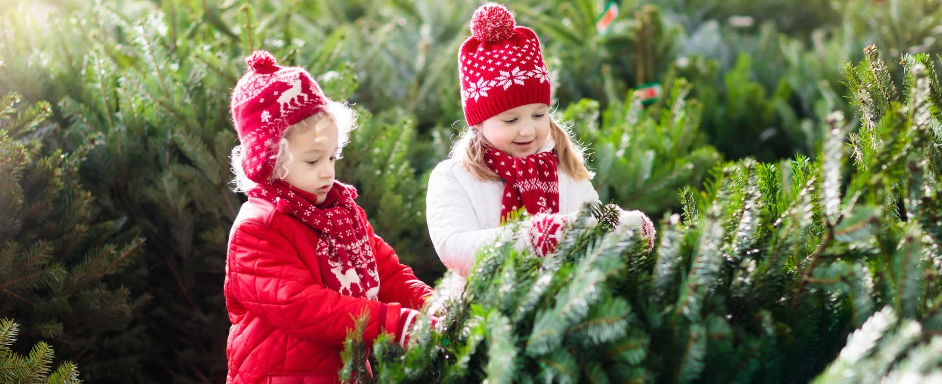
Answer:
<svg viewBox="0 0 942 384"><path fill-rule="evenodd" d="M540 40L516 25L499 4L480 6L471 17L471 37L458 51L462 105L467 125L477 125L507 109L549 105L549 74Z"/></svg>

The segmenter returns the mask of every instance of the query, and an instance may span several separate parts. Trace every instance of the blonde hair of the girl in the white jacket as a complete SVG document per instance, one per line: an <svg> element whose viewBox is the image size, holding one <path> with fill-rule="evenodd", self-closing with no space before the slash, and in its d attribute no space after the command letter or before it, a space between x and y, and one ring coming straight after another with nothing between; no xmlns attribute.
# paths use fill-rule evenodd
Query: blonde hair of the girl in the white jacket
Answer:
<svg viewBox="0 0 942 384"><path fill-rule="evenodd" d="M458 142L451 147L448 158L460 159L464 168L479 180L500 181L500 175L488 168L484 161L486 148L491 144L484 139L479 128L480 125L466 126ZM593 178L594 174L586 168L585 148L573 138L572 125L560 125L550 116L549 137L556 142L556 156L559 158L560 170L577 180Z"/></svg>

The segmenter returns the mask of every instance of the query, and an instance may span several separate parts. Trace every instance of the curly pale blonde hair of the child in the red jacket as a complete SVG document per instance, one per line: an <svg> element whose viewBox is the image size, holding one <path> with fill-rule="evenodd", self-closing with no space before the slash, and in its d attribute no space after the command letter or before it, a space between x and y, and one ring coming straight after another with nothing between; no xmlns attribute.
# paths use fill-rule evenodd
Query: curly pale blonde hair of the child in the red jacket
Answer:
<svg viewBox="0 0 942 384"><path fill-rule="evenodd" d="M347 104L336 101L327 102L327 107L298 123L289 125L284 129L282 139L275 142L272 146L276 148L275 154L271 159L275 159L274 170L268 175L268 180L284 178L288 175L288 164L294 160L289 150L291 136L295 133L304 133L320 123L323 118L328 118L337 125L337 159L341 158L344 146L349 143L349 132L356 128L356 111L350 109ZM249 192L257 185L254 181L245 175L242 169L242 158L245 156L242 145L235 145L230 156L230 166L235 178L229 183L233 185L233 192Z"/></svg>

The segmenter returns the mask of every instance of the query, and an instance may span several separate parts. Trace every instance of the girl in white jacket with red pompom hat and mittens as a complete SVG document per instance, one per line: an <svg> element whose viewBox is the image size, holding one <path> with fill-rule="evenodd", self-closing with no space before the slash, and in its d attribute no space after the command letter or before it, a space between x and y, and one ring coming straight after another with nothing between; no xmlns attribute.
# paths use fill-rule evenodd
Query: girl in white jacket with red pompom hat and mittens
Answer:
<svg viewBox="0 0 942 384"><path fill-rule="evenodd" d="M578 209L598 201L582 148L549 115L549 75L533 31L487 4L475 11L471 33L458 57L468 126L432 171L426 199L435 251L462 276L514 211L529 214L518 246L546 256ZM641 211L623 210L621 223L654 243Z"/></svg>

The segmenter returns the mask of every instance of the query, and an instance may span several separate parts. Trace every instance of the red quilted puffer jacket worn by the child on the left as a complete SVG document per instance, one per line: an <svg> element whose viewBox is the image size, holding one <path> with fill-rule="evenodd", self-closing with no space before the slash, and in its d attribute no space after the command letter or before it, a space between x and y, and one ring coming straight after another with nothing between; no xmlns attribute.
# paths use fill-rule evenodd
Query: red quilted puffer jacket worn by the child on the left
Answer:
<svg viewBox="0 0 942 384"><path fill-rule="evenodd" d="M366 216L360 209L361 216ZM354 315L364 338L395 333L402 307L419 309L431 289L367 228L380 272L380 301L341 295L321 280L317 232L268 201L249 198L229 235L224 292L229 310L228 384L337 383ZM326 271L326 273L330 273Z"/></svg>

